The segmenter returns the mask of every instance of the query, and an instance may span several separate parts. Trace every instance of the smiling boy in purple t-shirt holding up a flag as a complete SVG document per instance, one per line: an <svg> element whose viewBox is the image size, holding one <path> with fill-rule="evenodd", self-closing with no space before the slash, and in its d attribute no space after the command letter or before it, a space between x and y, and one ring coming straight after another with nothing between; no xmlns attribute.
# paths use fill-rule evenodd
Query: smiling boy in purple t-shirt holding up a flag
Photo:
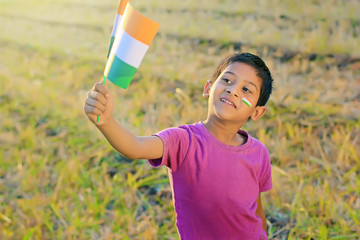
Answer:
<svg viewBox="0 0 360 240"><path fill-rule="evenodd" d="M124 156L169 168L181 239L267 239L260 193L272 188L269 153L240 129L264 115L272 81L259 57L233 54L205 84L206 120L154 136L136 137L121 127L111 116L113 96L101 83L84 110Z"/></svg>

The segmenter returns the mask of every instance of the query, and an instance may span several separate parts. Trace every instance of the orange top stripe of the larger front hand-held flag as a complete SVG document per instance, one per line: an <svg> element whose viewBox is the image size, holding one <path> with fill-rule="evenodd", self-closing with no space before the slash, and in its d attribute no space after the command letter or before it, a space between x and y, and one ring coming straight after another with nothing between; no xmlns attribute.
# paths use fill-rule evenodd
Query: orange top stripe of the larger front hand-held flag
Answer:
<svg viewBox="0 0 360 240"><path fill-rule="evenodd" d="M120 27L136 40L149 46L160 24L136 11L130 3L123 16Z"/></svg>

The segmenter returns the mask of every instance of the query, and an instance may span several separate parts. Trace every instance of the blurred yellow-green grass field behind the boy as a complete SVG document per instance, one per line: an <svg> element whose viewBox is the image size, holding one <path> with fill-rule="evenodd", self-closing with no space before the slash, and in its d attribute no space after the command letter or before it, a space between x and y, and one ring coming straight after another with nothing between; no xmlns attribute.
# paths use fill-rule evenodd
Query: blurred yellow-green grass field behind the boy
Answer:
<svg viewBox="0 0 360 240"><path fill-rule="evenodd" d="M224 56L275 79L270 239L360 239L360 2L136 1L161 23L115 116L135 134L204 119ZM178 239L165 168L116 153L83 114L117 0L0 0L0 239ZM200 117L200 118L199 118Z"/></svg>

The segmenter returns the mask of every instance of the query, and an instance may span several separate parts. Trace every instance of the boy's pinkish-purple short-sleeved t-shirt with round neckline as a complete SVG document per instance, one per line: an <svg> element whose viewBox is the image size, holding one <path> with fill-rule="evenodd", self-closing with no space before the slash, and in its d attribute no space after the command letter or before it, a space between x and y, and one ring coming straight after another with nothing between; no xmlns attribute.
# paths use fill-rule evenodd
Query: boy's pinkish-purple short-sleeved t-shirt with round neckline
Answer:
<svg viewBox="0 0 360 240"><path fill-rule="evenodd" d="M259 192L272 188L269 152L247 132L241 146L226 145L199 122L156 134L163 157L149 160L169 168L182 240L267 239L255 214Z"/></svg>

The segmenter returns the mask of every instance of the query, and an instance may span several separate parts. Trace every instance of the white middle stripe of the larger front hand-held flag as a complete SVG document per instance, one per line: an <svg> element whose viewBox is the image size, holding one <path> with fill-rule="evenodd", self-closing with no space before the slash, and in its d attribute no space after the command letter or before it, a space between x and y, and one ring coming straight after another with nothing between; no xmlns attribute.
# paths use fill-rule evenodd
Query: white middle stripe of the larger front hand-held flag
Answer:
<svg viewBox="0 0 360 240"><path fill-rule="evenodd" d="M131 37L124 30L118 29L111 52L116 51L115 55L118 58L138 68L148 49L148 45Z"/></svg>

